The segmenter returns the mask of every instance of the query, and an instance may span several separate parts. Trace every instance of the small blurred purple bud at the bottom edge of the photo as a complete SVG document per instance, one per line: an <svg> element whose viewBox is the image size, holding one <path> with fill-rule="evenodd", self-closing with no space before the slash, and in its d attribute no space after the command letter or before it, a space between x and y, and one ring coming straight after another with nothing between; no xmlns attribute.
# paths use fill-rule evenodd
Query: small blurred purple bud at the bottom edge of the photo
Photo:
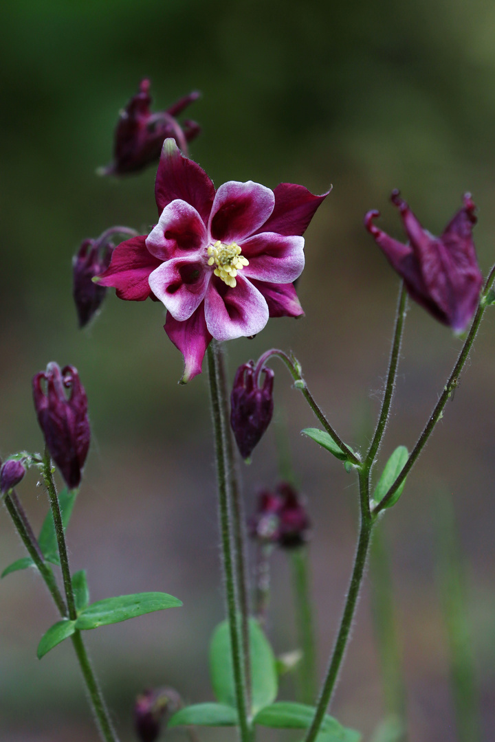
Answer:
<svg viewBox="0 0 495 742"><path fill-rule="evenodd" d="M182 706L180 695L172 688L145 690L134 704L134 723L140 742L155 742L165 730L168 719Z"/></svg>

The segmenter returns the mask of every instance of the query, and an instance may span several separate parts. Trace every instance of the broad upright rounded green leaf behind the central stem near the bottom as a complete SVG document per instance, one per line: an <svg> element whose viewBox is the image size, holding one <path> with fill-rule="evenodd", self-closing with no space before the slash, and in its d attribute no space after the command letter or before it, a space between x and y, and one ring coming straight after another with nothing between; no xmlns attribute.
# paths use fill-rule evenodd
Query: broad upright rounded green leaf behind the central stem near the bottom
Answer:
<svg viewBox="0 0 495 742"><path fill-rule="evenodd" d="M265 634L254 619L249 619L249 649L251 656L252 713L272 703L277 697L278 677L275 654ZM210 645L210 674L214 695L220 703L237 707L229 622L217 626Z"/></svg>

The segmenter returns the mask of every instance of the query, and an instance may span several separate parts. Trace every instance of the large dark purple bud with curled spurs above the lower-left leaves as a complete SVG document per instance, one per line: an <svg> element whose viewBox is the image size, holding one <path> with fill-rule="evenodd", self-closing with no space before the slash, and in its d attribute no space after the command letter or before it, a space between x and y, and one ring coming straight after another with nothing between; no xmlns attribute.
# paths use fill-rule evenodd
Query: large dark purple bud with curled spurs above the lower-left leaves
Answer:
<svg viewBox="0 0 495 742"><path fill-rule="evenodd" d="M42 389L46 381L46 392ZM65 390L69 390L67 398ZM56 363L33 376L33 397L39 427L50 455L69 489L79 487L88 455L90 428L88 398L73 366L59 369Z"/></svg>

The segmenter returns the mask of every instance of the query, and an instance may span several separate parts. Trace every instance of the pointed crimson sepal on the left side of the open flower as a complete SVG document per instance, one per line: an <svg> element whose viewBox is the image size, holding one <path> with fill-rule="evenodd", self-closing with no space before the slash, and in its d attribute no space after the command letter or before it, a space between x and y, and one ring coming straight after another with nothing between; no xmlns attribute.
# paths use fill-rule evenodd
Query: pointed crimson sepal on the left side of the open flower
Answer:
<svg viewBox="0 0 495 742"><path fill-rule="evenodd" d="M100 286L114 286L119 299L144 301L151 294L148 278L161 260L146 248L146 235L132 237L114 249L110 267L98 278Z"/></svg>

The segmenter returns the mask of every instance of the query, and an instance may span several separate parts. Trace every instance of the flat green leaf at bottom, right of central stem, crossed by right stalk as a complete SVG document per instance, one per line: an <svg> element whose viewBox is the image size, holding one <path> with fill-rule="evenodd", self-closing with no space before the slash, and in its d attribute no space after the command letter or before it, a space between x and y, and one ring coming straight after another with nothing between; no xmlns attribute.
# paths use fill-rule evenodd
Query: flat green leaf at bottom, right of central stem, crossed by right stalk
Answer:
<svg viewBox="0 0 495 742"><path fill-rule="evenodd" d="M315 718L315 711L314 706L306 706L305 703L279 701L261 709L253 723L274 729L307 729ZM317 737L318 742L358 742L360 739L359 732L345 729L332 716L324 715Z"/></svg>

